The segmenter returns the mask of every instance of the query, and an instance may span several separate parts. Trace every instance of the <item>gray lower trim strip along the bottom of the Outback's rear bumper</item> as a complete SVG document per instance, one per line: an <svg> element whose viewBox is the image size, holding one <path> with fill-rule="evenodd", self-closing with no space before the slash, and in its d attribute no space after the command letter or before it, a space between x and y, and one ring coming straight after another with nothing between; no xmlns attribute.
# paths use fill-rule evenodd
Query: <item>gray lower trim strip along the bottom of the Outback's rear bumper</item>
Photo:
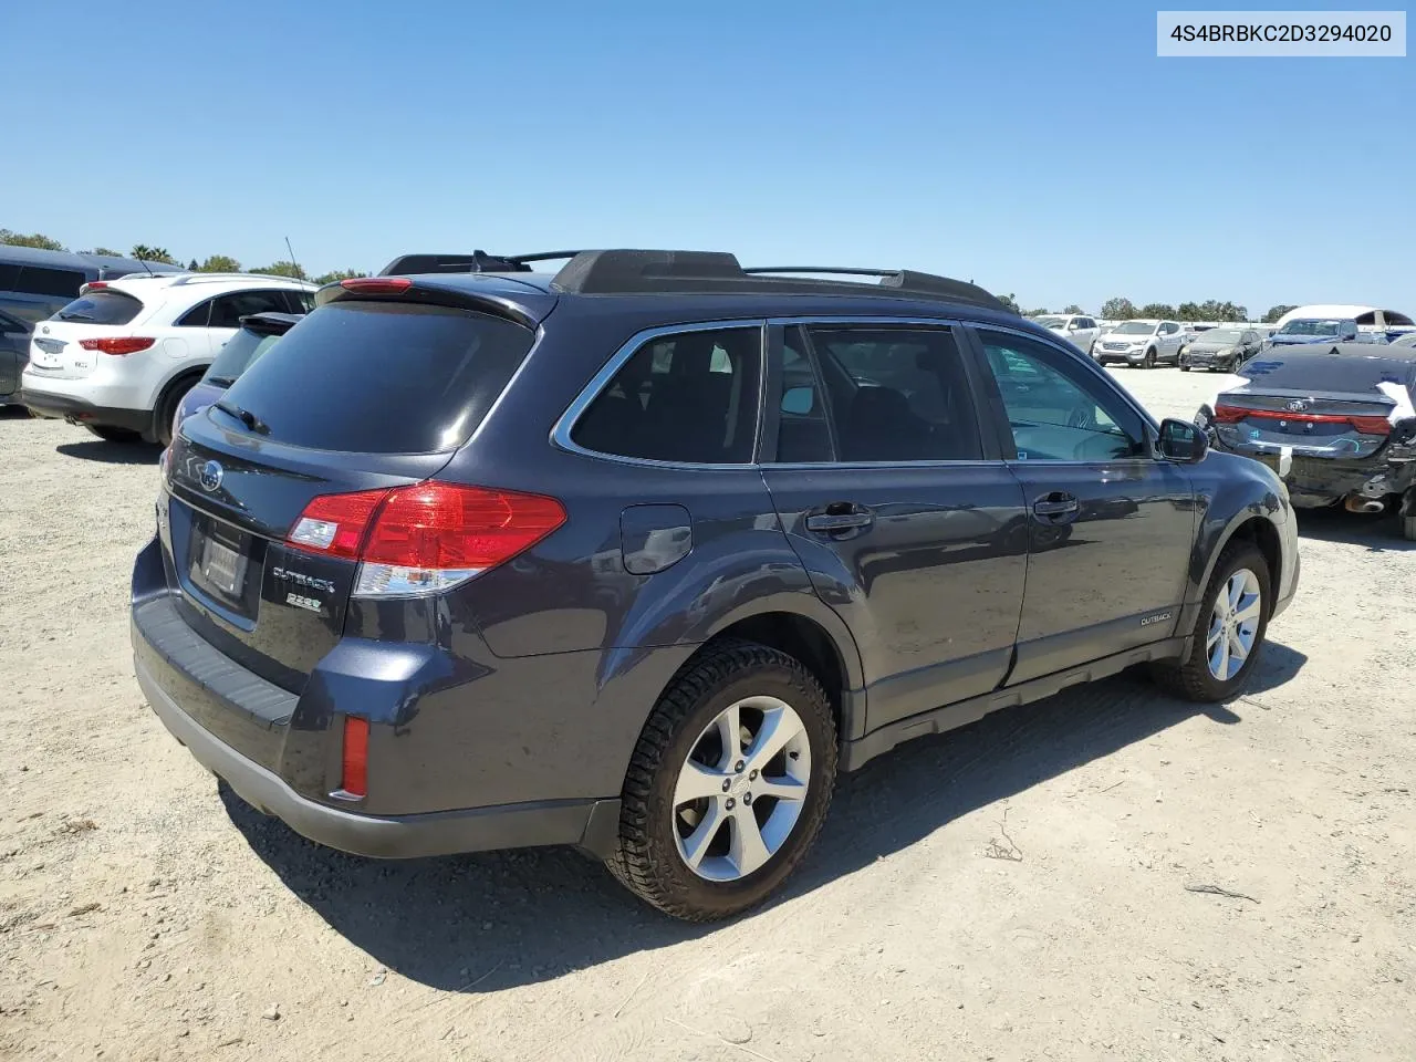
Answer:
<svg viewBox="0 0 1416 1062"><path fill-rule="evenodd" d="M326 807L290 789L193 721L139 660L137 683L157 718L204 767L252 807L302 837L354 855L409 860L423 855L569 844L606 858L619 821L619 800L542 800L416 816L375 817Z"/></svg>

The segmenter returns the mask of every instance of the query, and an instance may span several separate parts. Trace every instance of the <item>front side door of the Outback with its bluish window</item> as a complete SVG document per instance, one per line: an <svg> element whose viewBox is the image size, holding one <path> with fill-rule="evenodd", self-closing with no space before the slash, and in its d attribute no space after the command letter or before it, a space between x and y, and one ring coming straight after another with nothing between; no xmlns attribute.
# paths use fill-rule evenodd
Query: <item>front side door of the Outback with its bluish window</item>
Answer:
<svg viewBox="0 0 1416 1062"><path fill-rule="evenodd" d="M1031 551L1011 683L1174 633L1195 538L1187 473L1089 361L978 326L988 398L1029 507Z"/></svg>

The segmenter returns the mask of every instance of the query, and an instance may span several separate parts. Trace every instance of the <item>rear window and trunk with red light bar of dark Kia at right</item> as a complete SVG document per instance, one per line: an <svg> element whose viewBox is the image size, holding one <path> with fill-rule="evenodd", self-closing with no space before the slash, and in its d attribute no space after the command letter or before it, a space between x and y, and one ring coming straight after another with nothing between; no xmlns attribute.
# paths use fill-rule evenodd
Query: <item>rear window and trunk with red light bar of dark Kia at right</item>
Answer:
<svg viewBox="0 0 1416 1062"><path fill-rule="evenodd" d="M1396 358L1293 351L1243 372L1249 382L1221 394L1214 418L1221 442L1240 453L1361 460L1412 416L1412 365Z"/></svg>

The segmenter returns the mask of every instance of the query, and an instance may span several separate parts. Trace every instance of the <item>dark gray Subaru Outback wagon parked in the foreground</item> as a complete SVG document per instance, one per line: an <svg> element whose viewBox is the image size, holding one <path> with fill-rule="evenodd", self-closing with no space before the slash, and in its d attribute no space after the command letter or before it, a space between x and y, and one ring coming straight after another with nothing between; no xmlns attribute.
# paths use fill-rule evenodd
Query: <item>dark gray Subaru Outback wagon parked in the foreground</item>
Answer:
<svg viewBox="0 0 1416 1062"><path fill-rule="evenodd" d="M334 848L578 845L687 919L902 741L1147 661L1232 697L1298 576L1273 472L987 292L726 253L331 285L161 469L136 671L201 763Z"/></svg>

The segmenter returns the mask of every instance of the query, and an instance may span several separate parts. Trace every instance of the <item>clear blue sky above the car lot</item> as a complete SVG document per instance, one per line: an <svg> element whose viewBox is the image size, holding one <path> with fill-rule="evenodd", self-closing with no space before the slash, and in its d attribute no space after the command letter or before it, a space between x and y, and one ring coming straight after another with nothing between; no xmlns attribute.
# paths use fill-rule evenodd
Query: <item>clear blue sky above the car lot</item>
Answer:
<svg viewBox="0 0 1416 1062"><path fill-rule="evenodd" d="M314 272L681 246L1028 307L1416 310L1412 57L1158 59L1138 3L204 8L7 4L0 227L248 266L290 236Z"/></svg>

